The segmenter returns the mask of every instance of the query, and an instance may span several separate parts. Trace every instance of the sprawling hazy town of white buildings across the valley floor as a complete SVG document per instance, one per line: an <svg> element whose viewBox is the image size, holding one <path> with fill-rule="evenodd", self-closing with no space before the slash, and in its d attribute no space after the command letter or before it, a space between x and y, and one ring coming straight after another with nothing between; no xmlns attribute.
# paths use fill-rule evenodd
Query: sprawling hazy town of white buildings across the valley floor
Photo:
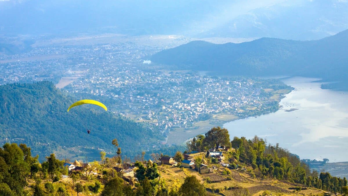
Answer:
<svg viewBox="0 0 348 196"><path fill-rule="evenodd" d="M256 116L278 109L261 79L220 78L187 71L158 71L145 56L162 50L131 42L85 46L48 46L2 56L0 84L77 80L65 89L112 99L111 111L147 121L164 136L170 129L189 128L213 114ZM42 56L56 58L42 58ZM40 58L35 58L40 56ZM6 59L28 59L4 62ZM146 60L146 59L145 59ZM146 63L143 63L146 62ZM102 99L101 98L101 99Z"/></svg>

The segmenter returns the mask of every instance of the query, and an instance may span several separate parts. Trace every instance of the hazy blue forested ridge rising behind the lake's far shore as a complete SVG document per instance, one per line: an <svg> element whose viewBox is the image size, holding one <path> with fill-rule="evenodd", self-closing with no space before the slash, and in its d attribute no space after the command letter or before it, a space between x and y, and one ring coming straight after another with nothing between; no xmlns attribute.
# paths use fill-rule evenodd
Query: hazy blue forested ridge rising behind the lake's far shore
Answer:
<svg viewBox="0 0 348 196"><path fill-rule="evenodd" d="M261 38L240 44L194 41L154 54L151 61L179 69L234 75L296 75L347 80L348 30L320 40Z"/></svg>

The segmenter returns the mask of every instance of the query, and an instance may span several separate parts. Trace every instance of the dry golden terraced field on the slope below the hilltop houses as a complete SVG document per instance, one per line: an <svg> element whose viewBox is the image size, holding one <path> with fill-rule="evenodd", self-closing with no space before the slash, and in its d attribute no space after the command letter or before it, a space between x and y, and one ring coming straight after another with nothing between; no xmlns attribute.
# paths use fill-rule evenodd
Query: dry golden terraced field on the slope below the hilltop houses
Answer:
<svg viewBox="0 0 348 196"><path fill-rule="evenodd" d="M204 186L211 190L215 189L215 193L219 195L235 195L236 189L247 188L251 195L323 195L323 190L318 190L314 188L308 188L306 190L294 191L289 189L290 187L299 186L298 184L289 183L285 181L278 180L264 180L262 184L260 180L252 178L247 173L242 173L237 170L231 170L231 174L223 175L222 171L225 169L221 165L214 164L219 167L214 173L209 174L199 174L194 169L172 167L169 165L159 166L161 171L161 176L165 179L166 186L168 187L179 187L180 184L184 182L186 176L196 176L197 179L204 184ZM206 178L209 177L211 181L219 181L208 183ZM230 180L229 180L230 179ZM228 190L230 189L230 190ZM217 192L217 190L219 192Z"/></svg>

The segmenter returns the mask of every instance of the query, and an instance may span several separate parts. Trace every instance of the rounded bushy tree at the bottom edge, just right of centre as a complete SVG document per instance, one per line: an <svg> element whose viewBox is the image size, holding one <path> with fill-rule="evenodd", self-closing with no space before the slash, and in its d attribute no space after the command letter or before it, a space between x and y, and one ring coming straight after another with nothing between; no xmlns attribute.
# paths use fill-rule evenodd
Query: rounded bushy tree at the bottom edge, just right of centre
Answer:
<svg viewBox="0 0 348 196"><path fill-rule="evenodd" d="M187 176L179 189L179 194L182 196L203 196L206 195L206 191L196 176Z"/></svg>

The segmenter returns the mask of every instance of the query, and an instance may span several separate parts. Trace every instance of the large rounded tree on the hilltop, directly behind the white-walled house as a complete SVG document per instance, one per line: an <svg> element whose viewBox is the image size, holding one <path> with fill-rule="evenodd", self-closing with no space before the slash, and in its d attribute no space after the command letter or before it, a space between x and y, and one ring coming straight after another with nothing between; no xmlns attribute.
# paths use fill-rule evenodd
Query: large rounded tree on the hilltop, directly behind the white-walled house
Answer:
<svg viewBox="0 0 348 196"><path fill-rule="evenodd" d="M219 145L230 146L230 134L226 128L213 127L205 134L204 143L208 148L219 148Z"/></svg>

